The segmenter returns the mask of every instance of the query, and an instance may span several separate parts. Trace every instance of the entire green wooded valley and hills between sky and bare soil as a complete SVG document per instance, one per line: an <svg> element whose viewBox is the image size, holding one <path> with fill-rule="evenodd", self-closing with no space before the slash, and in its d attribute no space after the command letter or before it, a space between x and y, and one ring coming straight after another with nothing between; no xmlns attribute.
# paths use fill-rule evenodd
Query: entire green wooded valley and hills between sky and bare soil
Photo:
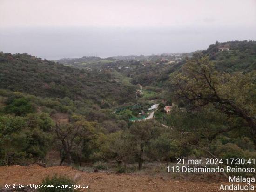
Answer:
<svg viewBox="0 0 256 192"><path fill-rule="evenodd" d="M256 41L134 58L1 52L0 166L123 173L177 158L256 158ZM153 104L154 118L129 120Z"/></svg>

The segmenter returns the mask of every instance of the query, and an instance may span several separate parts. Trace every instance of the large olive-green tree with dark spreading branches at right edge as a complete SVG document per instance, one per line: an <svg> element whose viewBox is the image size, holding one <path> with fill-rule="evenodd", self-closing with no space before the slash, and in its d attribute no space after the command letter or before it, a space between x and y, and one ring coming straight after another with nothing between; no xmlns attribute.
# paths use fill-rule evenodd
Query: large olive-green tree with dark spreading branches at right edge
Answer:
<svg viewBox="0 0 256 192"><path fill-rule="evenodd" d="M230 117L243 119L243 126L256 132L256 71L226 74L216 71L207 57L191 59L172 77L176 99L190 109L212 105ZM236 126L234 126L236 128Z"/></svg>

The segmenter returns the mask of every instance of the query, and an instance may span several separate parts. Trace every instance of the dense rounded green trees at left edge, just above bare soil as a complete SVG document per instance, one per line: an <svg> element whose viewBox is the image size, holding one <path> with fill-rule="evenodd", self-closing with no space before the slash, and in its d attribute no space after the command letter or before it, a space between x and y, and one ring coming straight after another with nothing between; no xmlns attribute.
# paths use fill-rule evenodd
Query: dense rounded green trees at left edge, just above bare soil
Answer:
<svg viewBox="0 0 256 192"><path fill-rule="evenodd" d="M41 160L51 144L51 134L29 126L26 117L0 116L0 164Z"/></svg>

